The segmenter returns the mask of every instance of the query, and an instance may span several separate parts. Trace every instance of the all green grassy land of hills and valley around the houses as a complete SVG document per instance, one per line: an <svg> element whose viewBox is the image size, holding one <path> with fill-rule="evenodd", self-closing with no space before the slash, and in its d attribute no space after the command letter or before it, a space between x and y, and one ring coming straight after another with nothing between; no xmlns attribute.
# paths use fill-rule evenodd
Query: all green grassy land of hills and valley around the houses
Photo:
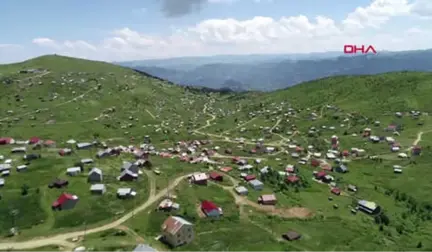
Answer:
<svg viewBox="0 0 432 252"><path fill-rule="evenodd" d="M30 69L37 71L23 72ZM402 72L333 77L270 93L224 94L176 86L108 63L43 56L0 65L0 94L0 137L27 140L37 136L57 142L55 148L29 150L28 153L40 153L43 158L32 162L25 173L13 170L0 189L0 234L18 226L22 233L15 240L100 226L144 203L151 191L148 181L153 181L155 190L160 192L180 174L217 169L217 166L209 168L204 164L152 156L154 167L162 174L145 172L138 182L126 183L116 181L115 176L122 161L131 160L131 155L96 160L94 165L106 174L109 190L103 197L92 196L86 181L91 166L85 167L86 172L77 177L66 176L65 169L82 158L94 157L97 149L60 157L57 151L70 147L65 143L69 139L137 145L144 136L150 135L156 148L163 149L180 140L208 138L213 141L210 147L220 147L220 155L231 149L235 156L263 158L251 171L258 175L258 169L266 165L284 171L285 165L296 164L298 160L289 155L290 143L306 148L314 145L316 151L325 152L330 147L330 137L336 134L340 136L342 149L363 148L367 155L380 158L380 161L353 158L348 164L349 173L332 173L341 188L345 190L354 184L359 188L358 193L344 191L343 196L329 200L328 186L311 179L318 168L308 163L299 166L299 176L307 180L300 187L280 186L284 184L280 183L283 178L275 175L267 178L262 192L251 191L247 196L255 202L262 193L275 193L277 207L302 207L315 214L312 219L298 220L263 214L251 206L238 207L227 192L229 182L224 182L224 188L205 189L181 183L175 192L181 205L177 214L193 220L197 237L178 251L219 252L230 248L234 251L393 252L432 248L429 197L432 137L428 134L432 132L432 121L427 113L416 118L407 113L430 112L432 74ZM293 115L288 113L290 108L295 110ZM404 116L395 117L397 111ZM316 114L315 120L311 120L311 113ZM374 120L381 121L381 125L374 125ZM388 124L403 126L400 135L394 136L402 152L410 153L409 148L417 138L418 144L424 147L422 155L401 160L390 152L387 143L372 144L358 136L366 127L372 128L373 134L393 136L383 129ZM319 133L309 134L311 127L320 129ZM418 139L420 132L423 135ZM244 144L235 140L238 137L245 138ZM251 154L258 138L279 151ZM14 166L22 164L21 156L11 154L10 150L11 146L0 146L0 155L14 159ZM225 160L224 165L231 165L229 154L219 158ZM392 166L396 164L404 167L403 174L393 173ZM239 179L237 169L230 174ZM68 179L67 191L80 197L73 210L51 210L51 203L62 191L47 187L56 177ZM116 199L116 189L129 186L137 190L136 200ZM200 217L196 206L203 199L212 199L223 206L226 217L221 221ZM356 199L379 203L390 224L377 225L375 222L380 220L361 213L352 214L350 210ZM124 223L122 228L130 229L124 239L117 236L114 239L116 231L107 230L92 234L86 243L98 251L111 251L120 245L129 249L135 241L153 240L166 217L166 213L146 210ZM302 240L281 242L280 234L290 229L301 232ZM108 244L107 241L110 241L107 247L111 248L99 247ZM152 244L160 246L156 241Z"/></svg>

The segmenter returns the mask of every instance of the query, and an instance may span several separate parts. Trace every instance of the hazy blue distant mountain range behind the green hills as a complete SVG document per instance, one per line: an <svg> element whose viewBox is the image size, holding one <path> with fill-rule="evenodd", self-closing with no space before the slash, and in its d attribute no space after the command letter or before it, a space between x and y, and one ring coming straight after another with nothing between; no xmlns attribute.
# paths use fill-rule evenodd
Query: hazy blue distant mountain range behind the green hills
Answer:
<svg viewBox="0 0 432 252"><path fill-rule="evenodd" d="M117 63L171 82L234 91L272 91L336 75L432 71L432 50L341 56L244 55L190 57Z"/></svg>

